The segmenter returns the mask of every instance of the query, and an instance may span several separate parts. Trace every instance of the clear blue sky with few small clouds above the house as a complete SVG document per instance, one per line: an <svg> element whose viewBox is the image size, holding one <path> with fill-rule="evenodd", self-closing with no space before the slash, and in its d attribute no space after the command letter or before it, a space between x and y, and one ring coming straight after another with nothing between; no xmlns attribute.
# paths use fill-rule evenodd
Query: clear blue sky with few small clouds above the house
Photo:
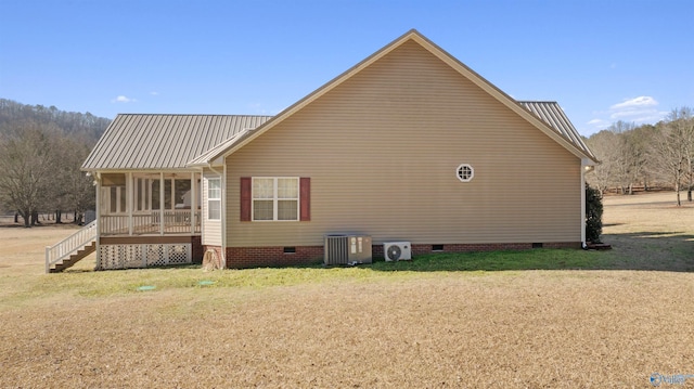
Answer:
<svg viewBox="0 0 694 389"><path fill-rule="evenodd" d="M275 115L412 28L586 137L694 107L692 0L0 0L0 98Z"/></svg>

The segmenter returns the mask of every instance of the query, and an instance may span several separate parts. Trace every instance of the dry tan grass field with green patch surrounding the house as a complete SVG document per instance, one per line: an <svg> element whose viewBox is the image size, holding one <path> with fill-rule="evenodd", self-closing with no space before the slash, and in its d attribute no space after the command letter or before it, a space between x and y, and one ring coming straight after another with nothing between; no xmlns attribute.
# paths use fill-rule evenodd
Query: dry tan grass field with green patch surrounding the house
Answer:
<svg viewBox="0 0 694 389"><path fill-rule="evenodd" d="M694 387L694 205L673 199L607 197L609 251L363 268L46 275L70 228L0 226L0 388Z"/></svg>

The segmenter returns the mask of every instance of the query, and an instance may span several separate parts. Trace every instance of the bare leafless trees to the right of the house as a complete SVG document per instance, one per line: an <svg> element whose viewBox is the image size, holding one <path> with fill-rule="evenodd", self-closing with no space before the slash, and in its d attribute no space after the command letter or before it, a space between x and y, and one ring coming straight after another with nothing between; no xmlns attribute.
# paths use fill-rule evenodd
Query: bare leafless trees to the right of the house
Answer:
<svg viewBox="0 0 694 389"><path fill-rule="evenodd" d="M694 109L672 109L656 125L617 121L586 140L601 165L586 176L601 195L633 194L634 189L673 190L692 200L694 190Z"/></svg>

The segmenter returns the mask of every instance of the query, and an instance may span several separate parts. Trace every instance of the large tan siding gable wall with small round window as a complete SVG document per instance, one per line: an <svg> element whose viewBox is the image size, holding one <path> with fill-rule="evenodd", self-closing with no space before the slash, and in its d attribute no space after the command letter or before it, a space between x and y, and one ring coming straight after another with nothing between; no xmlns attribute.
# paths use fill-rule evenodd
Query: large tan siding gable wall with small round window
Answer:
<svg viewBox="0 0 694 389"><path fill-rule="evenodd" d="M460 182L470 164L475 178ZM578 157L407 42L227 158L228 245L580 241ZM240 177L309 177L310 222L239 221Z"/></svg>

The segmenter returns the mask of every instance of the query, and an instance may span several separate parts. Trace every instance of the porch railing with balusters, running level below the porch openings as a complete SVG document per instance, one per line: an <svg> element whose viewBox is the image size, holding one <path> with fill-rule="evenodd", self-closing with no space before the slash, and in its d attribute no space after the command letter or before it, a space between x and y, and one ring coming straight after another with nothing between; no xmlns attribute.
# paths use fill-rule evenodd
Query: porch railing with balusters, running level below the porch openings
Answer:
<svg viewBox="0 0 694 389"><path fill-rule="evenodd" d="M162 212L138 213L132 216L132 234L200 234L200 210L192 212L190 209L165 210L164 222L162 223ZM102 235L129 235L130 217L127 215L102 215ZM195 224L192 224L195 221Z"/></svg>

